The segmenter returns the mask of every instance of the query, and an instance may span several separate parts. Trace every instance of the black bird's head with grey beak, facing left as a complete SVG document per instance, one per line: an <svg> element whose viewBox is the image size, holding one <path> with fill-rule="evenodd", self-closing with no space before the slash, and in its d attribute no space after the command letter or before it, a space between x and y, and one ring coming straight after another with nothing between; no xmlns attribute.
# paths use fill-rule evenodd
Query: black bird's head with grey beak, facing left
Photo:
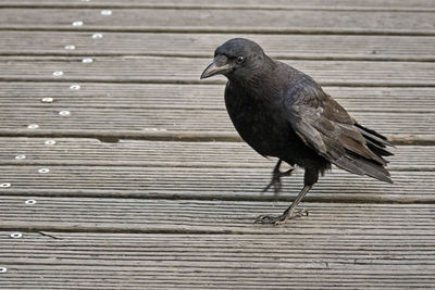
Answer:
<svg viewBox="0 0 435 290"><path fill-rule="evenodd" d="M213 62L202 72L201 79L224 75L228 79L249 78L265 59L263 49L245 38L233 38L216 48Z"/></svg>

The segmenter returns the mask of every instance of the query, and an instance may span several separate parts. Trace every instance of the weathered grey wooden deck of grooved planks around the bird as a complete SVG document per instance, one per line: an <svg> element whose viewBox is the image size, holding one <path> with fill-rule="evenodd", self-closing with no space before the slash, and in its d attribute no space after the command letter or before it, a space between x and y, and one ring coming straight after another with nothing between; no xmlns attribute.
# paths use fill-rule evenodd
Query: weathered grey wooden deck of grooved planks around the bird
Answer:
<svg viewBox="0 0 435 290"><path fill-rule="evenodd" d="M241 36L397 146L394 185L334 168L260 191L224 78ZM434 0L0 1L0 289L434 289Z"/></svg>

